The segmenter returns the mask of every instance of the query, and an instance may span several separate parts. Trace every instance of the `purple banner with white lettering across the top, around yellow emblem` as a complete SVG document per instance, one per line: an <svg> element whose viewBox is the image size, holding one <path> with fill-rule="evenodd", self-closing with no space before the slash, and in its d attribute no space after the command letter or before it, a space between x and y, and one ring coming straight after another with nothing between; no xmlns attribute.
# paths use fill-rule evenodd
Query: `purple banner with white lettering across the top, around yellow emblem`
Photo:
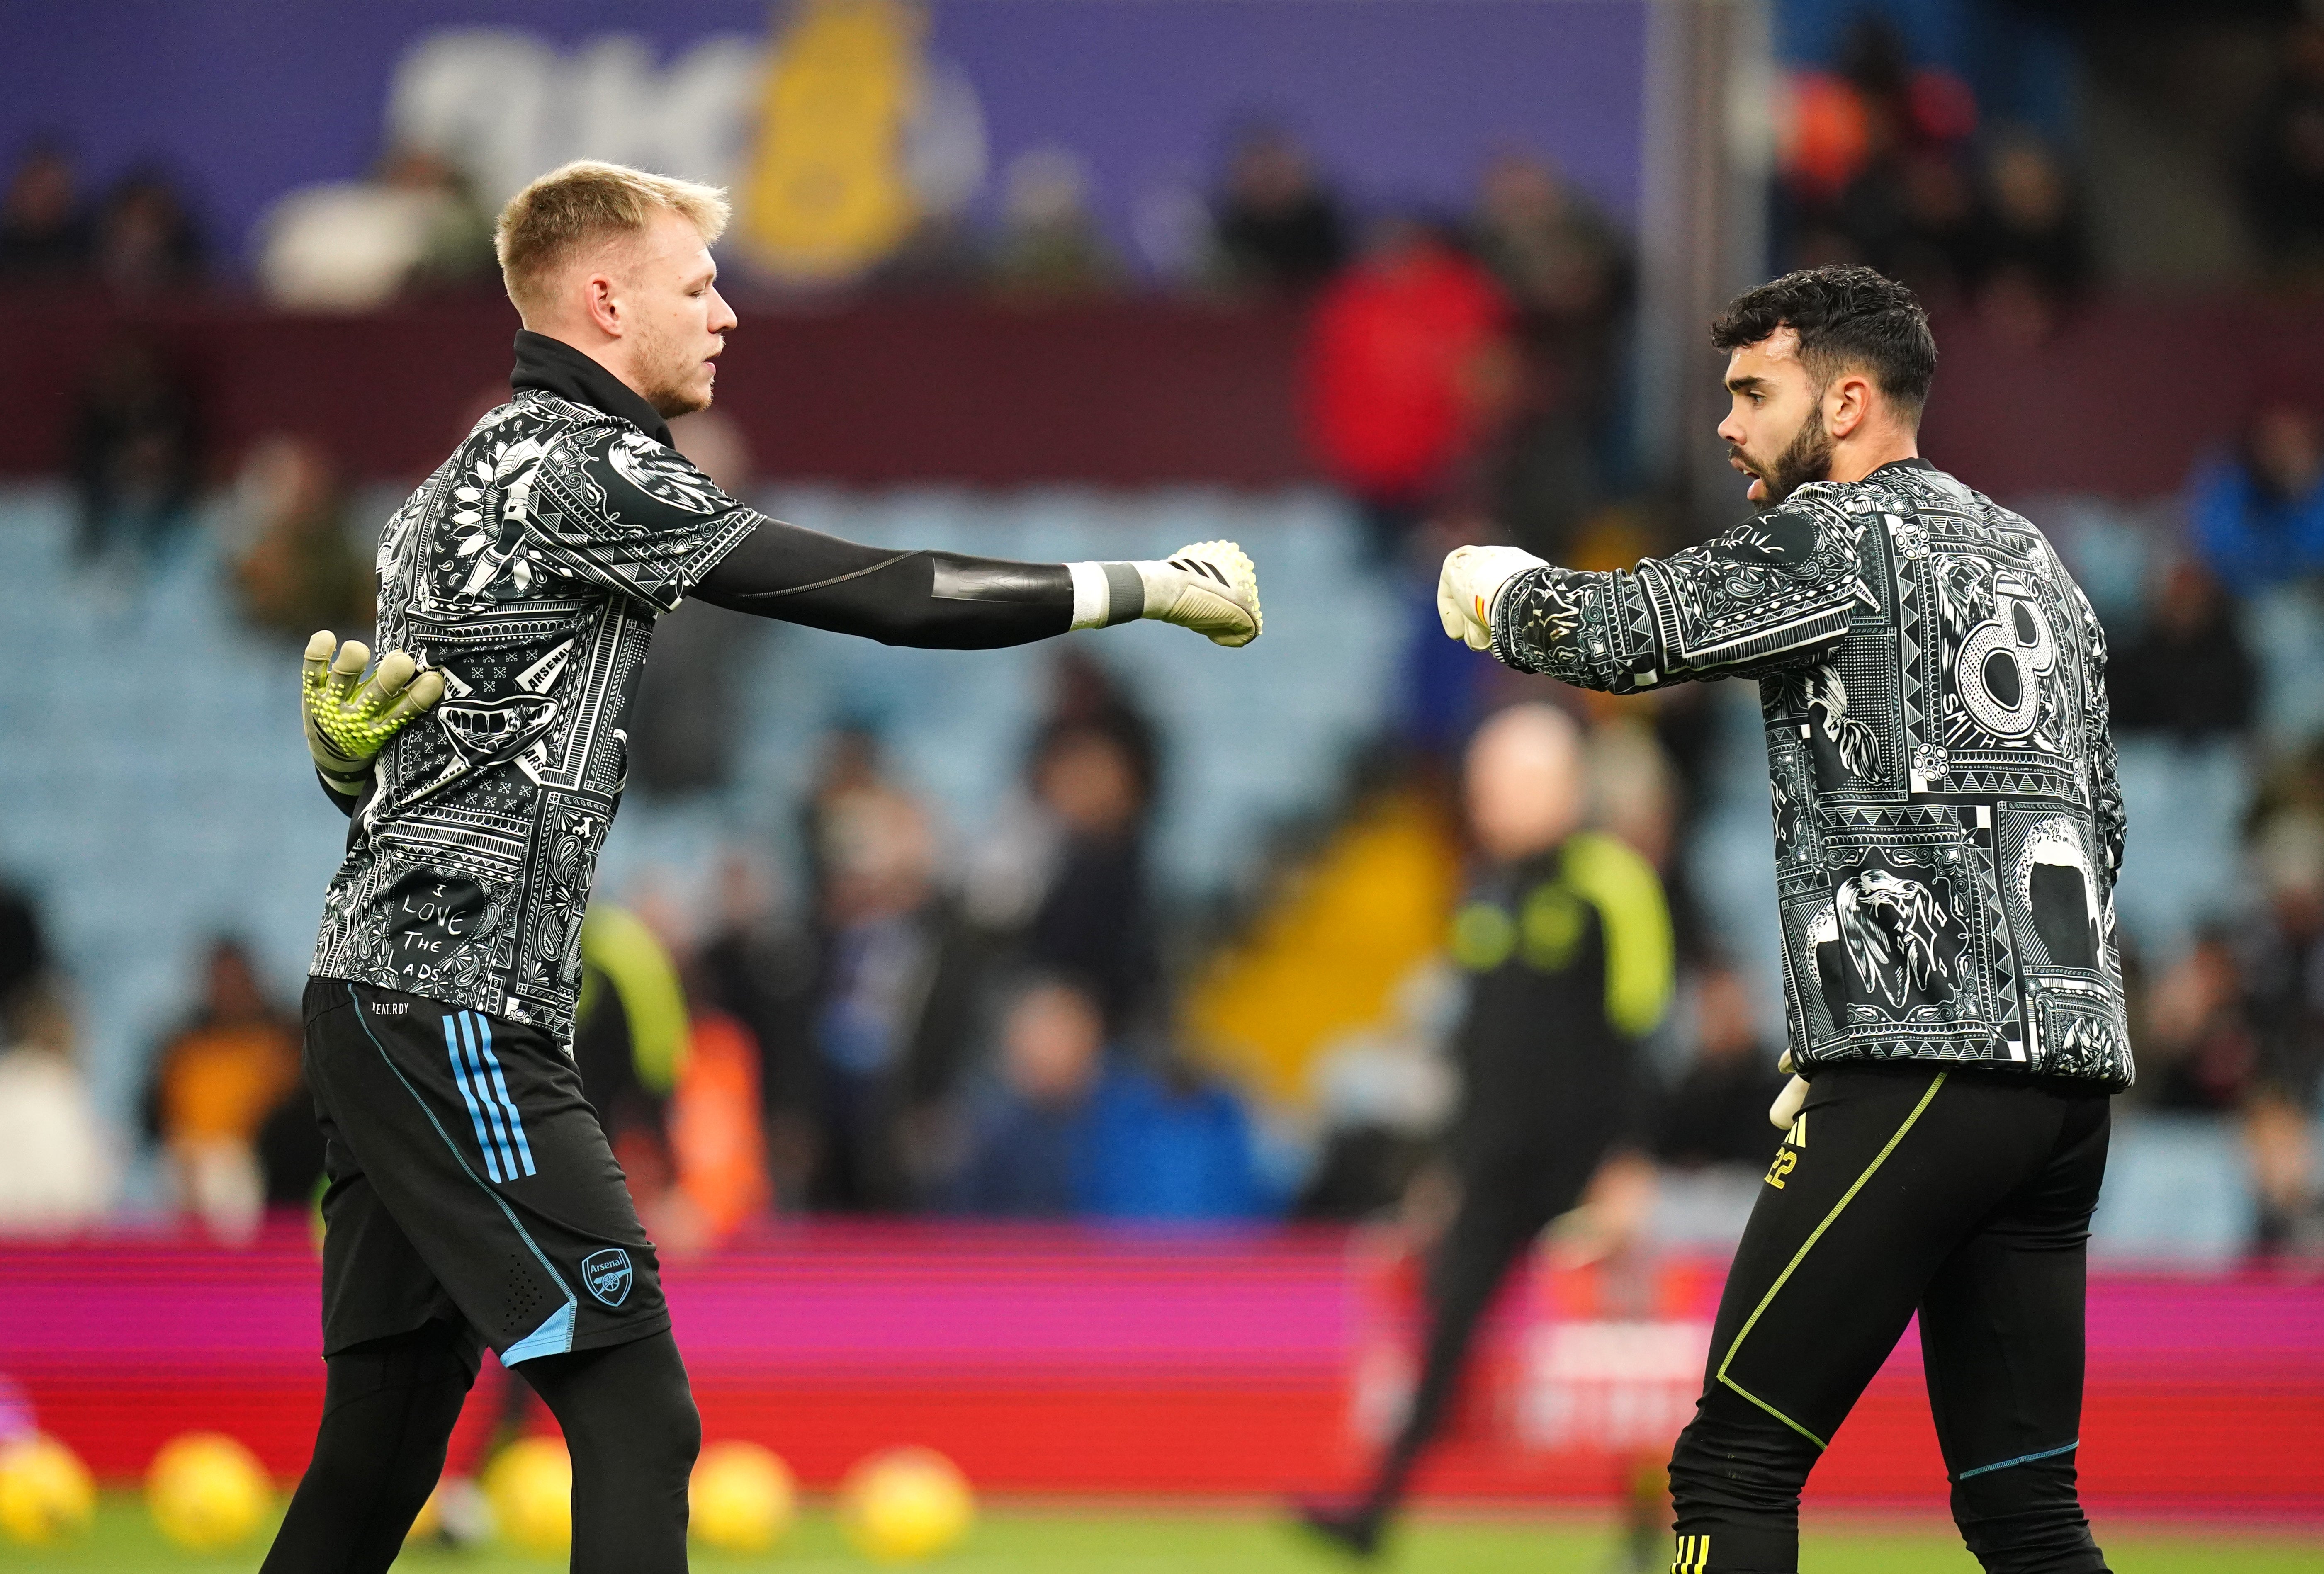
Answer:
<svg viewBox="0 0 2324 1574"><path fill-rule="evenodd" d="M1466 209L1501 151L1636 212L1643 0L890 9L909 16L925 205L990 216L1027 153L1062 153L1132 267L1169 267L1174 212L1253 123L1304 139L1367 212ZM160 165L228 267L277 198L358 179L397 139L456 144L488 202L576 156L741 186L797 16L762 0L9 0L0 156L60 139L98 191Z"/></svg>

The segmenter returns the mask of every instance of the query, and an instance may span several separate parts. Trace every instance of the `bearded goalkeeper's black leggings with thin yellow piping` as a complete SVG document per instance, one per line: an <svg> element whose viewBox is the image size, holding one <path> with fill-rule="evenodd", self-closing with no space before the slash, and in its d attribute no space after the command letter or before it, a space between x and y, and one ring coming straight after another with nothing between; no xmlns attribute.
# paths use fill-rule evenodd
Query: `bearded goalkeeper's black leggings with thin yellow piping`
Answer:
<svg viewBox="0 0 2324 1574"><path fill-rule="evenodd" d="M1799 1488L1920 1311L1952 1518L1994 1574L2103 1574L2075 1495L2101 1090L1831 1067L1785 1137L1671 1455L1678 1574L1799 1567Z"/></svg>

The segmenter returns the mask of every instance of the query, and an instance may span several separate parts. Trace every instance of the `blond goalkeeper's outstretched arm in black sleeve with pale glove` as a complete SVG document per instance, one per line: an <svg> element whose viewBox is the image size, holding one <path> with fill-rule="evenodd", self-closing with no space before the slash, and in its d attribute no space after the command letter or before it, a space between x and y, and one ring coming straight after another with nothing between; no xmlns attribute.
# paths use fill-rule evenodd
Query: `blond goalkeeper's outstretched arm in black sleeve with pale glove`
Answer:
<svg viewBox="0 0 2324 1574"><path fill-rule="evenodd" d="M1218 644L1260 635L1260 586L1234 542L1157 563L1009 563L890 551L765 518L693 588L697 600L881 644L995 649L1160 618Z"/></svg>

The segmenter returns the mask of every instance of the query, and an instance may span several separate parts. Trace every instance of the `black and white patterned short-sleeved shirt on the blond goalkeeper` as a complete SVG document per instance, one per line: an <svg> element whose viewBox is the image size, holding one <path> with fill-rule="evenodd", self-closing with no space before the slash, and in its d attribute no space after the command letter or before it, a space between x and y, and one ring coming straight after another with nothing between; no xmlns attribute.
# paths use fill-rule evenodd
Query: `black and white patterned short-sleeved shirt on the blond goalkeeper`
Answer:
<svg viewBox="0 0 2324 1574"><path fill-rule="evenodd" d="M760 518L588 405L523 391L476 423L379 539L379 644L439 670L444 702L379 756L318 976L572 1037L653 621Z"/></svg>

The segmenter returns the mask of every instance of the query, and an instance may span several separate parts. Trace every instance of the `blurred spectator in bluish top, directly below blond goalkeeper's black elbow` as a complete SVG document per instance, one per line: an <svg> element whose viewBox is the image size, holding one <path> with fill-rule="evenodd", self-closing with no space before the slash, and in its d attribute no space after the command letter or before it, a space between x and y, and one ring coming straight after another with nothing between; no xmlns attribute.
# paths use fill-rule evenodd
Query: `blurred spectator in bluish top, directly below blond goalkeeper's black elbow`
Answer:
<svg viewBox="0 0 2324 1574"><path fill-rule="evenodd" d="M816 990L820 1151L809 1200L911 1207L939 1165L981 953L934 883L937 837L904 790L871 779L820 804L827 870Z"/></svg>

